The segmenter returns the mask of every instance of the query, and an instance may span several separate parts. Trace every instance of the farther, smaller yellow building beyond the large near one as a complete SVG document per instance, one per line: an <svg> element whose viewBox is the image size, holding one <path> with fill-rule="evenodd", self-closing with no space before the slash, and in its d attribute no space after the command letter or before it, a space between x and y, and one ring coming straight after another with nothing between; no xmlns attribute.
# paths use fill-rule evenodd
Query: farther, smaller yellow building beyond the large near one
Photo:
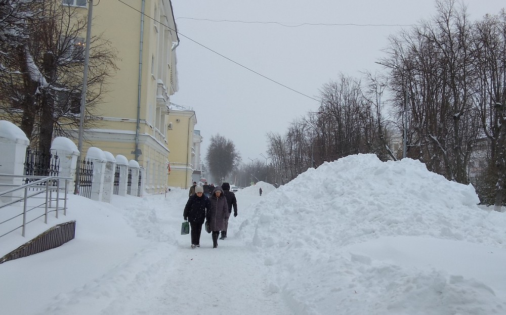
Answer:
<svg viewBox="0 0 506 315"><path fill-rule="evenodd" d="M171 150L171 171L167 177L167 185L189 188L193 183L194 170L200 169L200 165L195 165L196 153L200 158L200 147L196 150L193 135L197 117L193 109L172 104L167 120L167 138L170 140L168 148Z"/></svg>

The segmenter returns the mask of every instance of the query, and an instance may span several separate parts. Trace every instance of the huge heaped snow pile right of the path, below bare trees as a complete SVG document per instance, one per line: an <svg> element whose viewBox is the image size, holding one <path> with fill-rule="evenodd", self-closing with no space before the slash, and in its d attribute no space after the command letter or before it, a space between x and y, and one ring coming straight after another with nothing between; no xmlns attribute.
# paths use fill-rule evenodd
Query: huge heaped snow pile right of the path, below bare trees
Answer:
<svg viewBox="0 0 506 315"><path fill-rule="evenodd" d="M478 202L471 185L449 182L419 161L355 155L309 169L262 198L238 235L271 266L272 292L281 290L308 314L348 313L347 307L350 313L468 314L476 304L477 313L501 313L506 304L492 288L427 265L434 255L427 238L506 247L504 215L481 210ZM402 245L388 250L405 250L408 242L419 247L412 258L420 263L396 265L389 260L395 255L372 255L366 245L392 237Z"/></svg>

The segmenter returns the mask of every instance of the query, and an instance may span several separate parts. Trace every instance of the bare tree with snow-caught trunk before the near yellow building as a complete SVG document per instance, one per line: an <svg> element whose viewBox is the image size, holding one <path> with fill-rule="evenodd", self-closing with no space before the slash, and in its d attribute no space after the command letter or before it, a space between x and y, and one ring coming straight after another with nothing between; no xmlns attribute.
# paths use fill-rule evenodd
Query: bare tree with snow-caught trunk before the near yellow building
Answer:
<svg viewBox="0 0 506 315"><path fill-rule="evenodd" d="M28 36L11 47L15 59L3 59L9 83L0 88L8 96L2 110L18 123L32 146L49 153L52 139L68 136L79 124L86 19L76 8L52 0L37 2L37 16L26 19ZM93 105L106 92L117 69L116 52L102 34L91 38L87 94L87 125Z"/></svg>

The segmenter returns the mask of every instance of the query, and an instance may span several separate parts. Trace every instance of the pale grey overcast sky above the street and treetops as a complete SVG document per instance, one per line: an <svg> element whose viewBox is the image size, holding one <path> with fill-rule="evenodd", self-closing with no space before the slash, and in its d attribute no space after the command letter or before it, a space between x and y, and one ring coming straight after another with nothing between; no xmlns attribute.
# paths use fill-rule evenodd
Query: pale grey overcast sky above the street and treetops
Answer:
<svg viewBox="0 0 506 315"><path fill-rule="evenodd" d="M506 7L503 0L465 3L473 21ZM385 56L388 36L398 33L400 25L436 14L430 0L172 4L181 42L179 92L171 102L195 110L195 128L204 138L202 159L210 137L219 133L235 144L244 163L265 162L260 154L267 156L266 134L284 134L294 119L316 110L319 103L314 99L319 99L323 84L337 80L340 73L359 78L364 71L384 71L374 61Z"/></svg>

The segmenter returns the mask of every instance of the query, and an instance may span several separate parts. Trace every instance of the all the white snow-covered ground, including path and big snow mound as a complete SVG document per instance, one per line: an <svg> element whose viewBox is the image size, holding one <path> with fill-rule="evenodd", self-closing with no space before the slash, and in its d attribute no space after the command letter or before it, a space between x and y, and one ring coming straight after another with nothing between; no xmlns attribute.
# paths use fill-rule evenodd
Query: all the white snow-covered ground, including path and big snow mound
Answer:
<svg viewBox="0 0 506 315"><path fill-rule="evenodd" d="M2 313L506 313L506 213L418 161L355 155L245 188L217 249L180 235L187 196L71 196L74 240L0 264Z"/></svg>

